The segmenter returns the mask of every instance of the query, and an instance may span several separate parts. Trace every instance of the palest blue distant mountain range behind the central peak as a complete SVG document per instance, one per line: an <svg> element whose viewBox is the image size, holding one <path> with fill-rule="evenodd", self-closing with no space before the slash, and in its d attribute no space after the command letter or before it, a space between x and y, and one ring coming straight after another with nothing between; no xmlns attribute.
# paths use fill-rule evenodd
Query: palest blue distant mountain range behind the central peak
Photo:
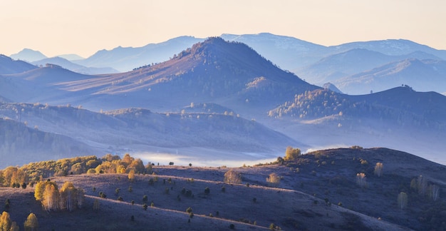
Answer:
<svg viewBox="0 0 446 231"><path fill-rule="evenodd" d="M403 62L409 58L416 58L420 61L426 59L444 61L446 59L446 51L430 48L413 41L388 39L344 43L338 46L322 46L289 36L269 33L222 34L221 37L227 41L246 43L277 66L290 70L308 83L317 86L323 86L323 84L330 82L335 84L340 91L351 94L365 94L370 93L370 91L388 89L391 83L393 84L390 86L392 88L406 84L415 87L418 91L446 92L445 84L437 84L435 89L430 89L430 86L424 86L424 84L418 88L421 79L429 78L425 75L401 78L401 83L396 85L393 81L388 83L385 78L375 78L373 79L373 88L369 86L369 78L356 78L356 76L361 76L363 72L384 68L383 66L389 63ZM194 43L201 41L204 41L204 39L180 36L162 43L150 43L142 47L123 48L118 46L110 51L98 51L88 58L78 56L78 59L76 59L71 56L73 59L70 61L73 63L70 64L66 61L56 60L38 61L38 64L53 63L71 71L86 74L125 72L167 61L172 58L173 53L185 50ZM22 60L34 60L33 57L38 56L38 51L35 51L35 53L31 53L31 51L25 49L19 53L21 55L19 57ZM29 53L30 57L26 57L26 53ZM16 55L11 57L14 58ZM75 63L83 67L76 67ZM415 70L415 72L417 71L422 70ZM400 75L405 74L401 73ZM435 75L446 78L444 73L435 73ZM348 87L351 86L351 78L355 78L355 82L361 84ZM414 81L415 78L417 78L416 81ZM354 88L353 91L352 88Z"/></svg>

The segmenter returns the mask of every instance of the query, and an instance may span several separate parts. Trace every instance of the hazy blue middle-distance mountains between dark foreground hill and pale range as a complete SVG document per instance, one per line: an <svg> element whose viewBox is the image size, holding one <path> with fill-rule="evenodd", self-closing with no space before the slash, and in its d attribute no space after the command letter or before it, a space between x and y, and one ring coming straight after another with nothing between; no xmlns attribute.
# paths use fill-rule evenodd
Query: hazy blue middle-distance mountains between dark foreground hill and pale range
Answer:
<svg viewBox="0 0 446 231"><path fill-rule="evenodd" d="M65 135L85 152L187 153L211 163L276 158L286 145L363 145L445 162L446 97L438 93L398 83L380 93L343 95L219 37L170 56L125 73L90 76L48 64L0 75L0 116Z"/></svg>

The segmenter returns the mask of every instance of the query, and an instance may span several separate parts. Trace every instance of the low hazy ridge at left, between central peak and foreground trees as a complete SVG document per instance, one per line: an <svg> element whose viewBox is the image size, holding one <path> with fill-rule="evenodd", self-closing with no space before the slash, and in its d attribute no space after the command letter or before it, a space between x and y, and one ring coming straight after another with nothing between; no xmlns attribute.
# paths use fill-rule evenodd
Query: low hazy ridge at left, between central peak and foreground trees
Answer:
<svg viewBox="0 0 446 231"><path fill-rule="evenodd" d="M305 146L254 120L233 114L152 113L138 108L95 113L69 106L1 103L0 116L26 121L30 127L37 126L48 133L66 135L102 153L121 150L171 153L194 149L215 153L193 153L189 158L200 157L195 160L197 163L276 158L276 152L286 145Z"/></svg>

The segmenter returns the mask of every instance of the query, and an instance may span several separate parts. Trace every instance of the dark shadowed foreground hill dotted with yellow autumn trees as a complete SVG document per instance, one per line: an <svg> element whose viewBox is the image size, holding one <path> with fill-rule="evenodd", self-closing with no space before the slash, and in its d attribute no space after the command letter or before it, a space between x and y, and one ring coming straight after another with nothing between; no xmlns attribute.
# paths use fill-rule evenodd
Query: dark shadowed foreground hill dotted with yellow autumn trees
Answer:
<svg viewBox="0 0 446 231"><path fill-rule="evenodd" d="M31 173L30 166L77 166L82 165L76 163L80 160L93 165L101 160L105 163L105 159L90 156L30 163L20 169ZM116 161L130 163L127 170L131 166L139 168L129 160L124 157ZM380 176L374 174L376 163L383 163ZM73 166L71 170L76 169ZM83 188L85 202L73 212L43 210L33 196L35 185L0 188L0 202L9 200L4 210L21 227L29 212L36 214L40 230L231 230L232 225L235 230L266 230L271 224L283 230L446 227L442 195L446 167L397 150L319 150L294 160L278 158L276 163L240 168L146 167L145 173L136 174L133 181L125 170L120 174L89 171L48 178L59 188L67 181ZM239 173L242 182L224 182L229 170ZM152 174L147 174L149 171ZM3 170L4 176L6 172ZM271 173L278 176L279 183L267 182ZM362 181L358 173L365 174ZM433 185L439 189L436 197L432 196ZM405 206L397 200L402 192L408 199ZM95 200L99 207L93 210ZM189 207L193 216L186 212Z"/></svg>

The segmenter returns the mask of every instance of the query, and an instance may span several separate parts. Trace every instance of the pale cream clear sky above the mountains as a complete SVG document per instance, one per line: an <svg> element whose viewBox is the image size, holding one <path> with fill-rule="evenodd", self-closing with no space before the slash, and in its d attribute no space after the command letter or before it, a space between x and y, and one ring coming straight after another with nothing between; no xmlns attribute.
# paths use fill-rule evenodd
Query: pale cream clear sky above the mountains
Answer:
<svg viewBox="0 0 446 231"><path fill-rule="evenodd" d="M84 58L177 36L269 32L325 46L409 39L446 50L445 0L1 0L0 53Z"/></svg>

